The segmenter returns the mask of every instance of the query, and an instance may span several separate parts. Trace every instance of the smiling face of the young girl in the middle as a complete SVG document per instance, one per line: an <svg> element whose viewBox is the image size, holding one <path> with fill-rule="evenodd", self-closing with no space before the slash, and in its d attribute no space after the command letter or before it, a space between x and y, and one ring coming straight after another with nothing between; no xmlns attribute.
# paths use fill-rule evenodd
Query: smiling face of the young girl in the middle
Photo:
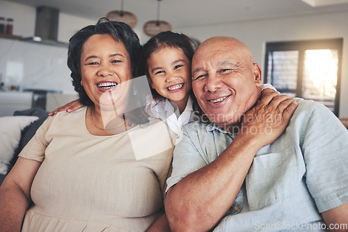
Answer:
<svg viewBox="0 0 348 232"><path fill-rule="evenodd" d="M186 106L191 90L191 62L182 49L164 47L148 59L151 88L172 103Z"/></svg>

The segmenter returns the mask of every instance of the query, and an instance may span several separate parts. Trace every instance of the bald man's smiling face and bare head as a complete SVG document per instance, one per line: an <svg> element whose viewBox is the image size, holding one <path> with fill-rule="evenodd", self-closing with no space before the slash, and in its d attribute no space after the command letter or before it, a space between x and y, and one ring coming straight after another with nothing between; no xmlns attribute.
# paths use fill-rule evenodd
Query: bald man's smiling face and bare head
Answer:
<svg viewBox="0 0 348 232"><path fill-rule="evenodd" d="M192 60L192 88L210 121L228 129L260 97L261 69L251 51L233 38L211 38Z"/></svg>

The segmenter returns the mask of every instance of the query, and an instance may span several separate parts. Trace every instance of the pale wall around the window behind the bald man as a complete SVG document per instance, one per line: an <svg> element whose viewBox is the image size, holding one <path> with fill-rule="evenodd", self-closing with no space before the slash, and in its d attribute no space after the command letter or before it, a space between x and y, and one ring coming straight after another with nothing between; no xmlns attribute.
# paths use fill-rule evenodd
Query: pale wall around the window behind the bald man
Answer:
<svg viewBox="0 0 348 232"><path fill-rule="evenodd" d="M175 28L200 41L212 36L235 37L248 45L255 62L264 67L266 42L343 38L339 117L348 117L348 12L250 22Z"/></svg>

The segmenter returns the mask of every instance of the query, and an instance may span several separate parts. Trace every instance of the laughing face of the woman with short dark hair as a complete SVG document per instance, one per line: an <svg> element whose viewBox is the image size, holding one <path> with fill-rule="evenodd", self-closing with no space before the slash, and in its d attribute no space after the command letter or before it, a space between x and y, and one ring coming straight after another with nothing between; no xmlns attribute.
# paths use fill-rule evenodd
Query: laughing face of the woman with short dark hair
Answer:
<svg viewBox="0 0 348 232"><path fill-rule="evenodd" d="M131 62L125 45L111 35L92 35L82 47L81 80L88 97L96 108L100 107L102 95L117 101L125 99L127 83L132 77ZM103 101L104 103L104 101Z"/></svg>

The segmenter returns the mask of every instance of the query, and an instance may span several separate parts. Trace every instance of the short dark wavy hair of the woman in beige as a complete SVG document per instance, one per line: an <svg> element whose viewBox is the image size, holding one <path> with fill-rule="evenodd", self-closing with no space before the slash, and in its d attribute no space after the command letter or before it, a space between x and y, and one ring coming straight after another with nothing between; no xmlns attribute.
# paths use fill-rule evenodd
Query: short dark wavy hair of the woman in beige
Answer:
<svg viewBox="0 0 348 232"><path fill-rule="evenodd" d="M98 20L96 25L90 25L82 28L69 40L68 49L68 67L71 70L72 85L74 90L79 94L81 103L85 106L90 106L93 101L90 100L84 88L81 85L81 53L82 47L88 38L92 35L109 34L125 45L131 61L132 77L139 74L139 48L140 42L138 35L132 28L122 22L110 22L106 17Z"/></svg>

